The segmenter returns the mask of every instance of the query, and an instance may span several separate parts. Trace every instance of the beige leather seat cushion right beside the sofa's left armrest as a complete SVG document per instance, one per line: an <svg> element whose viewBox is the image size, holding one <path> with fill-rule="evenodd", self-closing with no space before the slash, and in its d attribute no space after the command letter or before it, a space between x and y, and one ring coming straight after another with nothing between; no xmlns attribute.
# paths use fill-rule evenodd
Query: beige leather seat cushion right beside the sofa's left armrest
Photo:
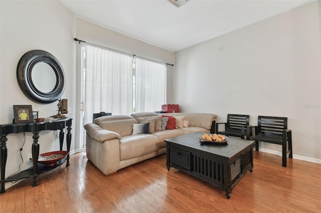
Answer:
<svg viewBox="0 0 321 213"><path fill-rule="evenodd" d="M119 140L120 160L142 156L158 149L159 138L152 134L123 136Z"/></svg>

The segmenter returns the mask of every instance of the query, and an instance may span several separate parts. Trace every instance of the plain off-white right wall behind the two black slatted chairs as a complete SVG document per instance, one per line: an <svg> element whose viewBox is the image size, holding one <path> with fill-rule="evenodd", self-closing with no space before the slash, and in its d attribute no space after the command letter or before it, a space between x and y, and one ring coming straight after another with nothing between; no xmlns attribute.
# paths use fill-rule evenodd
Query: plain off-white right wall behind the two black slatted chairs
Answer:
<svg viewBox="0 0 321 213"><path fill-rule="evenodd" d="M295 158L321 162L319 1L176 52L184 112L288 117ZM200 95L202 94L202 95ZM260 147L281 154L281 146ZM281 163L281 162L280 162Z"/></svg>

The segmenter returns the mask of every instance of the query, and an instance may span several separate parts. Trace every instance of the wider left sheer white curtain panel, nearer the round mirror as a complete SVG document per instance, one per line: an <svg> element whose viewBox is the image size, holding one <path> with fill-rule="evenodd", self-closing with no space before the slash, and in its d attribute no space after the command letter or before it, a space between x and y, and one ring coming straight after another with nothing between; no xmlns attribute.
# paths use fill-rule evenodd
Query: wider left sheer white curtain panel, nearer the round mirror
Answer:
<svg viewBox="0 0 321 213"><path fill-rule="evenodd" d="M85 123L93 113L132 113L132 56L86 45Z"/></svg>

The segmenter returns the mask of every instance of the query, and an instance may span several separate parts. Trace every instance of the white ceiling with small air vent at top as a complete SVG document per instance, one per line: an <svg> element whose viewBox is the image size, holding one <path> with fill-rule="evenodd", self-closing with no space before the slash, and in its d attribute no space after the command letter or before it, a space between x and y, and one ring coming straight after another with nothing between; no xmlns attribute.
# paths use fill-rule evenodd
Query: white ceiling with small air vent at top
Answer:
<svg viewBox="0 0 321 213"><path fill-rule="evenodd" d="M60 0L77 17L173 52L312 1Z"/></svg>

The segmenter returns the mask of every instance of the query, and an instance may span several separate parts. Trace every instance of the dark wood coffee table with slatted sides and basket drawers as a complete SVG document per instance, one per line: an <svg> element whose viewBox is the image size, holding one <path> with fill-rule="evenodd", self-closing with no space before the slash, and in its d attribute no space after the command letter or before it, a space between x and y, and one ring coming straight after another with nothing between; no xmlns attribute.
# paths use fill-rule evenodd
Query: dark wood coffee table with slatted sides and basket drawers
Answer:
<svg viewBox="0 0 321 213"><path fill-rule="evenodd" d="M254 141L226 137L226 144L201 143L204 132L193 132L166 139L167 168L177 168L225 190L232 188L250 170L253 171Z"/></svg>

